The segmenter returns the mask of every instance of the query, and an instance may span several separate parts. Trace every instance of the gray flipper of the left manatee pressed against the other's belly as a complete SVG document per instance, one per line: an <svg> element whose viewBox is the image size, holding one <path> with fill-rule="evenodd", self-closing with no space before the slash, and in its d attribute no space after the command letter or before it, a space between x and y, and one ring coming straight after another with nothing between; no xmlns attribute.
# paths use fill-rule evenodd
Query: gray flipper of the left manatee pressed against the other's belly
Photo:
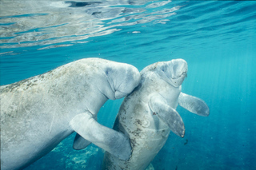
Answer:
<svg viewBox="0 0 256 170"><path fill-rule="evenodd" d="M70 121L70 127L84 139L89 140L114 156L122 160L130 158L130 139L121 132L100 125L94 120L90 112L76 115Z"/></svg>

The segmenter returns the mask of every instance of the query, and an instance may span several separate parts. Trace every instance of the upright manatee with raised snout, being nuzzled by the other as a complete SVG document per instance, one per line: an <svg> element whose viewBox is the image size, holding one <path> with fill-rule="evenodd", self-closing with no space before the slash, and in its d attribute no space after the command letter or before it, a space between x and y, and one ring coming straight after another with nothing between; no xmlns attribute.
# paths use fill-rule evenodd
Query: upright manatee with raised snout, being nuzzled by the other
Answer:
<svg viewBox="0 0 256 170"><path fill-rule="evenodd" d="M204 101L181 93L186 73L187 64L182 59L154 63L142 70L140 84L125 97L114 123L115 130L130 137L130 160L120 160L106 152L102 169L146 169L170 131L184 136L178 105L201 116L209 115Z"/></svg>

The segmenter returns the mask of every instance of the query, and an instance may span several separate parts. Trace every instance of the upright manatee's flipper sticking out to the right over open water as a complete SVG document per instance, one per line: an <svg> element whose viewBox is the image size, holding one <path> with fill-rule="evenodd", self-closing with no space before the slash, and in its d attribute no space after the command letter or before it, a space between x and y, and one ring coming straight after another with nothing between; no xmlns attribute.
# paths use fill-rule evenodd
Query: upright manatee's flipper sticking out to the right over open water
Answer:
<svg viewBox="0 0 256 170"><path fill-rule="evenodd" d="M206 105L205 101L185 93L180 93L178 97L178 105L182 106L184 109L187 109L191 113L198 114L202 117L208 117L210 113L210 109Z"/></svg>

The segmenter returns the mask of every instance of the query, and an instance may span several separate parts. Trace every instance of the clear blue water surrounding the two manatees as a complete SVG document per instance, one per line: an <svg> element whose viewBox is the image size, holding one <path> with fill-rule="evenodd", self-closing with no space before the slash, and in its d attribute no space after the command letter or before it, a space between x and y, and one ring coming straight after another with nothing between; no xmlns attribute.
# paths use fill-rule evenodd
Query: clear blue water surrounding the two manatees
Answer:
<svg viewBox="0 0 256 170"><path fill-rule="evenodd" d="M256 2L90 2L1 1L1 85L85 57L139 70L183 58L182 92L206 101L210 116L178 107L186 135L170 134L154 169L256 169ZM112 127L121 102L107 101L98 121ZM74 151L73 140L26 170L100 169L104 151Z"/></svg>

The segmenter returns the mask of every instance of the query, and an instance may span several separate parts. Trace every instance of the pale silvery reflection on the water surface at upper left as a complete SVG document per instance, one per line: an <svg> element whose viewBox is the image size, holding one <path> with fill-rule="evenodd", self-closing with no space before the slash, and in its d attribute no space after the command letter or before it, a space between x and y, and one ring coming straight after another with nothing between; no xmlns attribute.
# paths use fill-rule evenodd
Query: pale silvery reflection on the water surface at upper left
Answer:
<svg viewBox="0 0 256 170"><path fill-rule="evenodd" d="M171 1L146 2L150 1L2 1L2 48L44 45L38 49L48 49L67 46L62 42L86 43L87 38L118 31L118 26L165 23L181 7L158 10Z"/></svg>

